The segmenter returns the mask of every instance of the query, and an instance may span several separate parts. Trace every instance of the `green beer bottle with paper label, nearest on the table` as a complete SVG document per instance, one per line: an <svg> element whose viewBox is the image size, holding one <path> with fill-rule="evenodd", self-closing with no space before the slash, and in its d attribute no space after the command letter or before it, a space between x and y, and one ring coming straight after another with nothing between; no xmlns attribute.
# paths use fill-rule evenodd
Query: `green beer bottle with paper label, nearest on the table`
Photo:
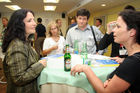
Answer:
<svg viewBox="0 0 140 93"><path fill-rule="evenodd" d="M68 44L65 47L64 70L65 71L70 71L71 70L71 55L70 55L69 45Z"/></svg>

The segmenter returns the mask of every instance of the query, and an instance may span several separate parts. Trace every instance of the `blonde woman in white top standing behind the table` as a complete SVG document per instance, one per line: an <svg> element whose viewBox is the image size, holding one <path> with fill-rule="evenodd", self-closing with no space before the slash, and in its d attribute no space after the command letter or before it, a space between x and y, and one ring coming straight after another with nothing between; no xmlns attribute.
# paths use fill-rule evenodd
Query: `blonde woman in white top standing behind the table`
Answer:
<svg viewBox="0 0 140 93"><path fill-rule="evenodd" d="M55 22L50 22L43 43L43 55L63 54L64 45L65 39L60 36L58 25Z"/></svg>

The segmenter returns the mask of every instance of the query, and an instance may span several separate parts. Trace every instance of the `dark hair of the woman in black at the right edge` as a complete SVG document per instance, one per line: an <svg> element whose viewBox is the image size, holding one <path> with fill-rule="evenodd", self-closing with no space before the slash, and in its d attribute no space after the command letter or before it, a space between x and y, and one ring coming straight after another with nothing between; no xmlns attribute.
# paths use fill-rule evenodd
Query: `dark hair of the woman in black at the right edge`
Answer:
<svg viewBox="0 0 140 93"><path fill-rule="evenodd" d="M140 12L133 10L124 10L119 13L124 22L127 25L127 30L136 30L136 42L140 44Z"/></svg>

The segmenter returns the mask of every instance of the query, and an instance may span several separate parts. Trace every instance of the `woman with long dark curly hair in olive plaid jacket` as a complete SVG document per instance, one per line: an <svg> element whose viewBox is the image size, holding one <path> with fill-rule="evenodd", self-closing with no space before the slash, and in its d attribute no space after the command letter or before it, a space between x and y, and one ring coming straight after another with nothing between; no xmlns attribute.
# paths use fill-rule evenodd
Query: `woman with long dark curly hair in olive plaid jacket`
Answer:
<svg viewBox="0 0 140 93"><path fill-rule="evenodd" d="M29 36L35 33L35 27L31 10L17 10L9 20L2 45L7 93L38 93L37 77L46 60L39 60L30 45Z"/></svg>

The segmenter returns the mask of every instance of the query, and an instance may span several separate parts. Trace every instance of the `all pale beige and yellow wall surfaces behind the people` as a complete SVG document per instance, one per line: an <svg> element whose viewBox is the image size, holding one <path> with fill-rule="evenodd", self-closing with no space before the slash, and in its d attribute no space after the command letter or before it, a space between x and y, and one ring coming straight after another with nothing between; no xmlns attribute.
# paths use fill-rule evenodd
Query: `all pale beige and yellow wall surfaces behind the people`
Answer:
<svg viewBox="0 0 140 93"><path fill-rule="evenodd" d="M118 13L120 11L122 11L123 8L126 5L133 5L138 11L140 11L140 0L133 0L133 2L130 2L130 3L124 4L124 5L120 5L118 7L114 7L114 8L111 8L111 9L104 10L104 11L91 13L91 17L89 19L89 24L93 25L94 24L94 21L93 21L94 18L95 17L100 17L100 16L105 16L106 17L105 24L110 22L110 21L116 20L117 16L118 16ZM74 13L76 13L76 12L74 12ZM6 16L8 18L10 17L10 15L11 15L11 13L2 13L2 16ZM41 17L43 19L42 23L45 26L47 26L49 21L56 20L57 18L61 18L61 14L60 13L53 13L53 12L52 13L47 13L47 12L35 13L35 20L38 17ZM61 19L62 19L62 31L63 31L63 34L65 35L65 31L68 27L67 15L66 15L66 18L61 18ZM1 23L1 20L0 20L0 30L1 29L2 29L2 23ZM109 46L108 52L105 55L110 56L110 52L111 52L111 46Z"/></svg>

